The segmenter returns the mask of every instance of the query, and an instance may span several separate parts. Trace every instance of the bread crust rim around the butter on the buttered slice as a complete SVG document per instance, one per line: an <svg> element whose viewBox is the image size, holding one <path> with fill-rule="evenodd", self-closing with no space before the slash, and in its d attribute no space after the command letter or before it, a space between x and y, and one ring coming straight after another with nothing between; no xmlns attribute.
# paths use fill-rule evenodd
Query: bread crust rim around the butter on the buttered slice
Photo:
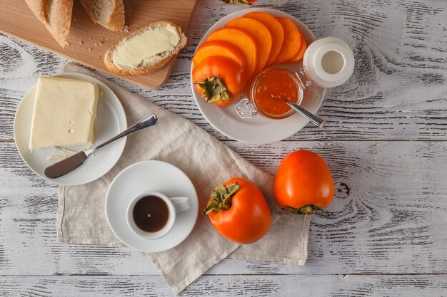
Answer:
<svg viewBox="0 0 447 297"><path fill-rule="evenodd" d="M121 43L122 41L124 41L127 38L131 38L131 37L134 37L136 35L139 35L140 33L143 33L148 28L156 28L157 26L163 26L163 25L165 25L165 26L166 25L172 25L172 26L176 27L177 32L179 32L179 35L180 35L179 44L177 44L176 48L174 48L174 50L169 54L169 56L166 56L163 60L161 60L161 61L159 61L157 63L150 64L150 65L143 66L143 67L139 67L139 68L120 69L120 68L118 68L114 64L112 56L113 56L113 53L114 53L114 51L116 49L116 46L118 46L119 43ZM169 61L171 61L171 59L174 58L174 56L177 53L179 53L181 48L184 48L184 46L186 46L186 41L187 41L187 38L184 35L184 33L182 33L181 28L179 26L177 26L174 23L171 23L170 21L157 21L155 23L151 23L151 24L149 24L147 26L144 26L143 28L139 28L139 30L134 31L133 33L130 33L128 36L125 36L118 43L116 43L114 46L109 48L109 50L104 55L104 65L106 66L107 69L109 69L109 71L111 73L114 73L116 75L145 75L147 73L151 73L151 72L157 71L161 67L165 66L166 63L169 63Z"/></svg>

